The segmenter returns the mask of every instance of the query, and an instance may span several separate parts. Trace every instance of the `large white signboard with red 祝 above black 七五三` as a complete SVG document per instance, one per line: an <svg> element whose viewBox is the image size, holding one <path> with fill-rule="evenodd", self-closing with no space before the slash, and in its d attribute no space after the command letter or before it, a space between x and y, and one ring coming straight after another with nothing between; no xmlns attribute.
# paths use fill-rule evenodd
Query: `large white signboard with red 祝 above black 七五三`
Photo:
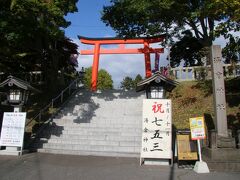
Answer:
<svg viewBox="0 0 240 180"><path fill-rule="evenodd" d="M144 99L141 158L172 159L172 105L169 99Z"/></svg>

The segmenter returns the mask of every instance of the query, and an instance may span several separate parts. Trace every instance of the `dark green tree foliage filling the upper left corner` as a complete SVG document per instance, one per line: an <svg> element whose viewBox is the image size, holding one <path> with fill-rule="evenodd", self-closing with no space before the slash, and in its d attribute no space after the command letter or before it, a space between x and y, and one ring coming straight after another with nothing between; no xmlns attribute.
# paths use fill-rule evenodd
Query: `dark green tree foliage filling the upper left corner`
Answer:
<svg viewBox="0 0 240 180"><path fill-rule="evenodd" d="M77 45L64 36L67 13L77 11L77 0L1 0L0 71L42 70L55 78L58 70L72 69ZM50 74L49 74L50 73Z"/></svg>

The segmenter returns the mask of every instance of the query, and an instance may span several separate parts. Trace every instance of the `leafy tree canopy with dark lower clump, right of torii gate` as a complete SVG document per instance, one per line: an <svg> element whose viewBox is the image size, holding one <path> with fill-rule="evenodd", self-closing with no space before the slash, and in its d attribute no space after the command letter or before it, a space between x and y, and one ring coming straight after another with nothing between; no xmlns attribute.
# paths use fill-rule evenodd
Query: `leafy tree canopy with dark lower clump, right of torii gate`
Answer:
<svg viewBox="0 0 240 180"><path fill-rule="evenodd" d="M216 37L228 38L239 31L239 4L236 0L112 0L103 8L102 21L123 37L166 34L165 43L173 46L172 65L181 60L197 65L201 47L206 47L207 55ZM186 30L193 35L186 36Z"/></svg>

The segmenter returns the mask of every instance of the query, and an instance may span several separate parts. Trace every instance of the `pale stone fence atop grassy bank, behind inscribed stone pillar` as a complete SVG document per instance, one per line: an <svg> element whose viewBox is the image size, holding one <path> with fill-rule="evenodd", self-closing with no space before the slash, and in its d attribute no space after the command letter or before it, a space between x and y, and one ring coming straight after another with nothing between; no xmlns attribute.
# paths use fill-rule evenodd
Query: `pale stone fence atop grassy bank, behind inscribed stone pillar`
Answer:
<svg viewBox="0 0 240 180"><path fill-rule="evenodd" d="M240 76L240 63L235 65L223 64L225 78ZM211 79L211 66L193 66L171 68L170 74L177 81L194 81L200 79Z"/></svg>

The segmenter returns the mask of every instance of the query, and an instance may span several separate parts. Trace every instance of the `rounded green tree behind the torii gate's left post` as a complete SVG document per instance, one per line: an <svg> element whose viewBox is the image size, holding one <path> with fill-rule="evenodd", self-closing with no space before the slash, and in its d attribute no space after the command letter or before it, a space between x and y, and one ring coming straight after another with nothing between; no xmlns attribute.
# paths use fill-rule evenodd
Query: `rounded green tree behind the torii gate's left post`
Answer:
<svg viewBox="0 0 240 180"><path fill-rule="evenodd" d="M92 67L85 69L83 83L88 89L91 88ZM98 71L97 88L99 90L113 89L113 80L111 75L104 69Z"/></svg>

